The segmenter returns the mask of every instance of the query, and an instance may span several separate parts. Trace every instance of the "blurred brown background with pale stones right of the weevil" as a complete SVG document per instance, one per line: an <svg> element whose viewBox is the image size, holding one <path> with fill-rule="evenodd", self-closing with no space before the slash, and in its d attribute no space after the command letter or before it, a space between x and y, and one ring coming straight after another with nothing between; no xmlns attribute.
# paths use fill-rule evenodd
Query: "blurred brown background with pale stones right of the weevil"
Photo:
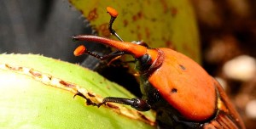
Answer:
<svg viewBox="0 0 256 129"><path fill-rule="evenodd" d="M247 128L256 127L256 1L191 0L204 68L236 105Z"/></svg>

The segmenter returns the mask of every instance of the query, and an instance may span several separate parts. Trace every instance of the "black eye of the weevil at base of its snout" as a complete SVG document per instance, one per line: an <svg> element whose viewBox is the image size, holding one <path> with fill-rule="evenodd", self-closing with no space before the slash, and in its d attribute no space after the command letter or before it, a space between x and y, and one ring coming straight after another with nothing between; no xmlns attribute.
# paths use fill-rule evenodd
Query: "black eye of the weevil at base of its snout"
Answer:
<svg viewBox="0 0 256 129"><path fill-rule="evenodd" d="M136 69L140 71L148 70L151 66L152 59L148 53L143 54L140 58L137 59Z"/></svg>

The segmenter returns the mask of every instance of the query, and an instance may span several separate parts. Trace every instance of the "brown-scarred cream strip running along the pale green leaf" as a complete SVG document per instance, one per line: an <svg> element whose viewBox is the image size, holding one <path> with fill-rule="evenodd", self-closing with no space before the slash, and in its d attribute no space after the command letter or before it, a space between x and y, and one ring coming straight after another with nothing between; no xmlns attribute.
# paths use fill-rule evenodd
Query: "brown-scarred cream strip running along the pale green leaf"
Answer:
<svg viewBox="0 0 256 129"><path fill-rule="evenodd" d="M14 66L11 64L0 64L0 69L12 71L18 74L22 74L24 76L30 76L35 81L40 81L44 83L46 86L60 88L62 90L73 93L74 97L76 95L79 95L85 98L87 105L97 106L102 103L103 98L101 95L93 92L89 92L84 87L80 87L71 82L61 80L60 78L51 76L41 71L33 70L32 68L27 68L22 66ZM124 115L128 118L131 118L137 121L143 121L152 126L154 125L154 120L151 120L146 115L143 115L142 113L138 112L135 109L128 109L125 106L122 106L121 104L106 104L106 105L102 105L102 107L111 109L114 112L118 113L119 115Z"/></svg>

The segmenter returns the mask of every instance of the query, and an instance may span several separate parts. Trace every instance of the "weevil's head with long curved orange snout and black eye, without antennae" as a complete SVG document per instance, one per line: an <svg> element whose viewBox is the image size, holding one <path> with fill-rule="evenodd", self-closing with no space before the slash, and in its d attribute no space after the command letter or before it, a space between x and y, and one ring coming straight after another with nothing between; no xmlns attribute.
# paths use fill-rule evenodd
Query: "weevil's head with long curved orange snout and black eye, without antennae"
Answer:
<svg viewBox="0 0 256 129"><path fill-rule="evenodd" d="M98 42L110 47L116 48L125 54L131 54L137 61L137 70L142 73L154 70L162 62L161 52L159 49L147 48L133 42L119 42L99 36L79 35L72 37L74 41ZM83 48L84 50L84 48ZM80 55L80 53L79 53Z"/></svg>

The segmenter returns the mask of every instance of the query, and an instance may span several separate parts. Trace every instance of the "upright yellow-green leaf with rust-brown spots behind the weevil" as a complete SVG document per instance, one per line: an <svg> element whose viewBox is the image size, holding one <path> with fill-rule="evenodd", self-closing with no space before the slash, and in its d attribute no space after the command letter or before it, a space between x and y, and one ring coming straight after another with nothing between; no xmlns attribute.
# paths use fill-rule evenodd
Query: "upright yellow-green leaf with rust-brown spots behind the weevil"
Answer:
<svg viewBox="0 0 256 129"><path fill-rule="evenodd" d="M172 48L200 62L200 42L189 0L69 0L99 36L110 37L106 8L119 12L113 23L124 41L147 42L151 48ZM113 37L113 36L111 36Z"/></svg>

